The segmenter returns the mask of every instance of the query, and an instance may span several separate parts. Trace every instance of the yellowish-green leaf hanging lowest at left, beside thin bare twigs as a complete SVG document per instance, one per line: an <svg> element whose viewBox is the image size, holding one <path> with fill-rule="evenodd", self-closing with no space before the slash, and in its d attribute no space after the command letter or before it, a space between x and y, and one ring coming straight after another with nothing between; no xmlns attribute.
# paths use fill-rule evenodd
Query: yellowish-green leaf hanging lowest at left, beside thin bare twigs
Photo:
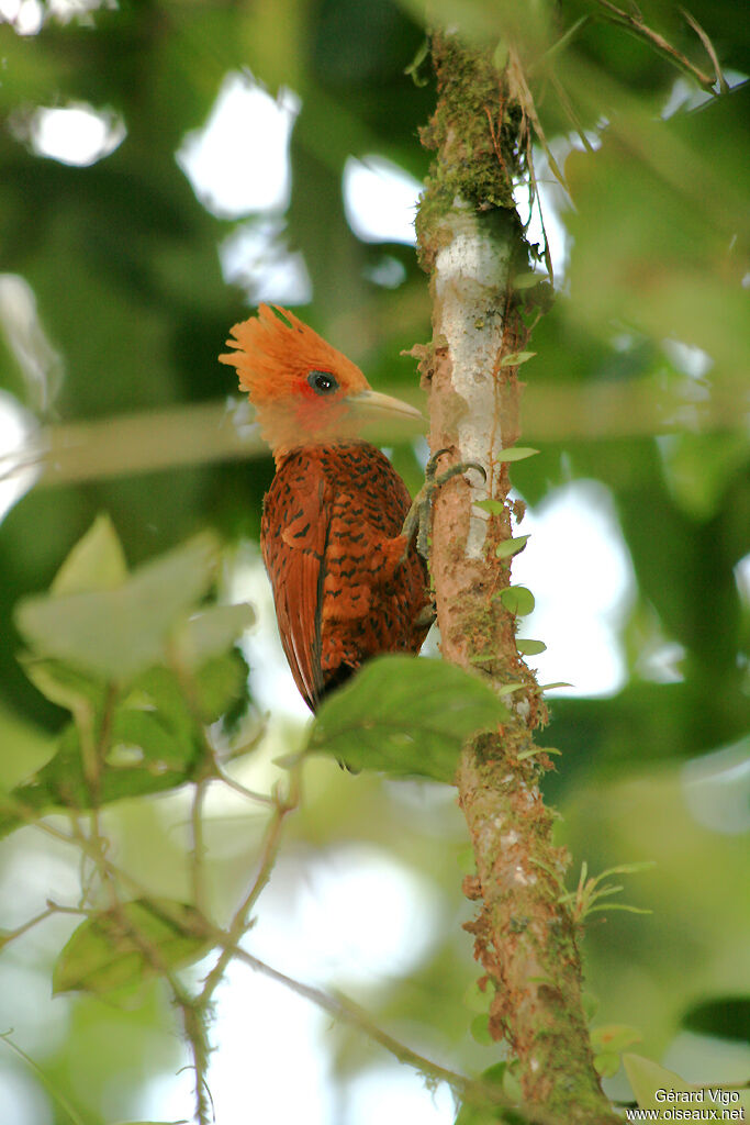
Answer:
<svg viewBox="0 0 750 1125"><path fill-rule="evenodd" d="M162 914L162 910L164 911ZM210 948L202 935L184 933L201 925L190 906L171 899L135 899L105 910L78 927L52 974L52 991L99 996L138 984L162 969L197 961Z"/></svg>

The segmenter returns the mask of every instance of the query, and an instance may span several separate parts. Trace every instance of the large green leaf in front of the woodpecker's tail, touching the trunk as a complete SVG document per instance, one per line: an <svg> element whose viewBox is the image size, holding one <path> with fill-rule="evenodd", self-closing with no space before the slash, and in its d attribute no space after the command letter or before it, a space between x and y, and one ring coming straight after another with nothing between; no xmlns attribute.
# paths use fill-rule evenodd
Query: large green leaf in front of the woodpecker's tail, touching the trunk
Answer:
<svg viewBox="0 0 750 1125"><path fill-rule="evenodd" d="M450 783L466 739L507 718L491 688L455 665L382 656L323 703L307 752L355 770Z"/></svg>

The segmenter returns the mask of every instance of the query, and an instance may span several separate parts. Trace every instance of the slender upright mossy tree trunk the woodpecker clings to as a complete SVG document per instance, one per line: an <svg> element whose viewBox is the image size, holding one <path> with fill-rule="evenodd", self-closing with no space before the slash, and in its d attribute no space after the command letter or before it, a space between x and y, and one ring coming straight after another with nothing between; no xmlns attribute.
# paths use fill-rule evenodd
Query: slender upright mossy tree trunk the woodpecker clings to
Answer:
<svg viewBox="0 0 750 1125"><path fill-rule="evenodd" d="M498 559L497 547L523 515L508 498L501 452L521 434L522 384L507 358L524 350L549 292L545 284L528 286L530 251L513 202L513 179L528 171L526 117L507 70L498 72L489 55L442 33L432 51L439 98L423 142L437 154L417 230L433 342L417 352L432 449L450 451L444 466L478 461L487 470L486 484L469 471L435 503L437 620L446 660L498 690L518 685L506 696L512 720L466 747L458 771L477 867L464 884L479 907L467 928L491 989L490 1032L517 1060L525 1101L560 1120L617 1122L594 1069L577 922L560 902L568 856L552 844L553 813L540 794L549 759L533 731L545 708L500 596L510 560ZM475 506L486 498L497 502L490 512Z"/></svg>

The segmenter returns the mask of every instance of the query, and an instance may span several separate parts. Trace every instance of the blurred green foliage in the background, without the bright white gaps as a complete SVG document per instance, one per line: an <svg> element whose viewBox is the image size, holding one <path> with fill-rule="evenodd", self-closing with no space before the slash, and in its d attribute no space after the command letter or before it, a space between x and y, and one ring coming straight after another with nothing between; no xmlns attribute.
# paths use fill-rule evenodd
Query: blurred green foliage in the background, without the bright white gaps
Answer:
<svg viewBox="0 0 750 1125"><path fill-rule="evenodd" d="M453 7L437 4L445 22L455 18ZM509 0L457 7L482 42L501 42L503 21L513 21L519 8ZM29 0L24 9L29 16ZM249 69L272 92L286 86L301 99L291 197L277 242L304 254L313 299L302 315L358 360L373 385L397 393L401 385L404 393L414 368L399 351L430 336L425 279L410 248L355 236L341 182L352 154L381 154L418 179L427 172L417 130L434 89L426 64L417 68L417 82L405 75L423 43L422 6L143 0L34 10L35 34L0 27L0 270L25 279L38 321L19 336L18 315L13 321L6 303L0 386L53 433L73 422L197 407L232 389L216 356L228 326L247 315L249 297L223 279L217 246L262 217L222 217L204 207L175 152L207 120L225 75ZM575 207L562 213L571 235L568 268L535 330L537 356L524 369L524 441L542 452L519 462L514 479L532 505L571 480L606 486L635 584L622 626L626 683L612 699L554 702L542 740L563 756L548 793L563 813L560 839L577 860L596 871L656 861L629 888L629 899L654 914L613 914L589 928L597 1019L635 1025L639 1050L652 1058L667 1048L683 1062L692 1058L702 1069L696 1079L737 1079L732 1044L748 1011L747 840L740 835L747 802L734 819L732 809L741 808L737 786L747 784L748 747L748 570L738 565L750 526L743 413L750 230L742 158L750 27L730 2L692 6L732 84L721 99L696 107L695 86L642 38L606 20L599 4L566 0L554 11L534 10L536 21L519 33L530 62L539 60L540 42L576 28L553 56L553 76L539 61L536 76L530 71ZM643 4L643 18L712 72L676 6ZM90 166L66 165L35 147L37 108L71 102L116 115L126 130L115 151ZM590 151L571 142L568 104ZM235 143L247 144L242 135ZM552 182L542 152L537 174ZM378 284L377 267L394 260L401 280ZM253 296L265 295L256 289ZM126 450L134 467L143 462L139 432ZM55 484L48 476L4 518L0 740L7 790L51 758L65 721L17 660L21 640L11 611L24 595L49 586L97 514L109 513L132 565L207 525L229 544L256 540L270 459L207 462L200 449L192 459L179 426L164 431L170 442L168 453L184 464L114 476L87 474L84 447L82 479ZM416 487L414 449L399 446L395 459ZM575 540L569 550L576 554ZM237 557L227 552L217 579L223 595ZM679 652L669 675L653 659L667 646ZM295 731L284 738L299 740ZM273 748L261 749L247 768L268 778L272 756ZM488 1065L493 1051L470 1038L463 1001L475 970L459 926L466 917L455 862L463 846L459 814L427 794L413 816L396 790L369 776L352 781L328 763L310 766L306 804L290 828L295 854L367 843L431 889L443 925L408 979L395 973L381 982L369 1007L457 1065ZM133 870L154 893L172 890L181 878L174 809L121 802L110 816ZM33 831L16 832L0 853L8 928L22 921L12 907L18 886L43 906L71 863L42 847ZM213 843L222 844L208 860L215 906L228 912L255 860L253 817L238 816L232 830L217 818ZM299 874L288 885L292 899L298 885ZM51 937L45 930L44 939L29 936L3 954L8 1015L0 1023L19 1029L25 1050L85 1120L138 1113L139 1091L180 1065L170 1014L155 989L125 1010L91 998L60 999L43 1029L27 1001L48 1004L48 962L72 928L54 926ZM341 1073L367 1059L343 1040L336 1058ZM0 1082L3 1072L10 1081L13 1066L12 1056L0 1060ZM42 1086L33 1097L37 1120L57 1119Z"/></svg>

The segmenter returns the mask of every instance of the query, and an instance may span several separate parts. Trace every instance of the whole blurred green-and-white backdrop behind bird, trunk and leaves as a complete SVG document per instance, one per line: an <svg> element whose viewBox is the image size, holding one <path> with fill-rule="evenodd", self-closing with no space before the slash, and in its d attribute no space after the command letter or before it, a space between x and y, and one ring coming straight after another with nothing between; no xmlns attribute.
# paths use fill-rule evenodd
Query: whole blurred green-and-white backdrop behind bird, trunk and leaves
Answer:
<svg viewBox="0 0 750 1125"><path fill-rule="evenodd" d="M437 10L501 46L519 7ZM690 1081L738 1081L750 1062L750 24L730 0L692 4L730 88L713 99L602 6L537 8L548 42L575 30L553 78L531 71L549 148L531 210L517 192L540 245L541 204L558 290L523 369L523 441L541 453L514 468L532 532L514 576L536 598L524 636L546 642L541 682L571 684L550 693L541 739L562 756L546 793L575 872L654 862L613 900L652 914L588 927L595 1024L632 1025L635 1050ZM643 3L642 17L713 73L676 4ZM207 524L224 538L224 594L259 612L253 713L271 712L236 774L268 785L306 710L259 560L272 462L242 417L238 451L216 357L233 323L278 302L378 389L424 402L399 354L431 335L413 230L435 101L422 6L0 0L0 783L49 757L63 719L16 660L12 606L49 585L103 511L132 564ZM387 448L418 487L424 439ZM228 792L207 812L225 918L262 821ZM154 893L179 897L187 816L181 793L107 813L118 860ZM345 989L436 1061L484 1069L497 1048L470 1034L466 846L451 790L311 764L247 947ZM76 864L33 827L3 842L2 927L74 897ZM74 925L57 917L3 952L0 1032L83 1122L187 1116L187 1056L155 987L124 1007L51 999ZM453 1119L444 1089L245 968L219 991L211 1034L219 1125ZM630 1096L622 1072L608 1089ZM2 1041L0 1105L3 1125L73 1119Z"/></svg>

